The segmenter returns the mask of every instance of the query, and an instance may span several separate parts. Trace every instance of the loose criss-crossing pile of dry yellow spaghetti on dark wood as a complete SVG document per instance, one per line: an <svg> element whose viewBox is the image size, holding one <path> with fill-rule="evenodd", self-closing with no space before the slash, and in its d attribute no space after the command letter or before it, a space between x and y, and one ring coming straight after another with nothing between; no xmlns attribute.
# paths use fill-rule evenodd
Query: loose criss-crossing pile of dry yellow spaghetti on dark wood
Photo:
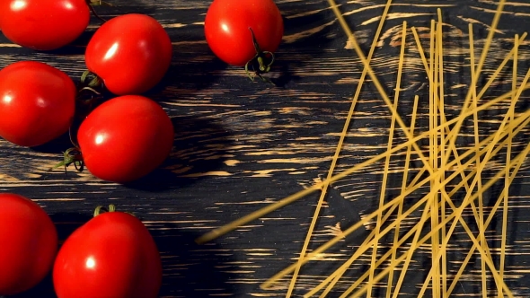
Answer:
<svg viewBox="0 0 530 298"><path fill-rule="evenodd" d="M481 80L482 69L488 57L493 36L499 25L499 18L503 12L506 0L499 1L490 24L488 36L485 39L483 48L481 48L481 55L478 57L478 61L475 60L473 25L471 23L468 25L469 67L471 71L469 90L463 96L464 102L461 111L453 118L447 118L446 115L444 22L441 10L437 9L437 20L430 22L428 35L430 44L427 48L428 57L426 57L426 52L421 45L418 31L416 28L411 27L411 33L416 48L419 51L421 64L428 77L428 115L426 115L428 116L428 130L425 132L419 132L420 127L417 125L420 96L414 96L411 125L409 127L405 125L397 109L398 102L401 102L400 96L402 96L401 85L405 65L405 48L407 45L407 22L402 23L401 48L397 63L393 101L390 100L390 97L384 91L382 83L380 83L374 69L370 66L392 0L388 0L384 6L384 13L381 16L379 25L375 31L375 38L366 57L352 31L349 29L343 14L340 13L339 6L335 4L334 0L328 0L328 3L337 16L340 26L349 38L350 44L357 53L364 69L352 98L348 117L340 134L340 140L331 160L331 166L326 179L322 182L315 183L310 188L305 188L252 214L245 215L242 218L234 220L232 223L225 224L208 232L196 241L198 243L211 241L245 223L267 215L282 206L287 206L314 191L321 190L312 221L305 236L300 257L294 264L284 268L261 284L262 289L269 289L272 285L278 283L280 279L292 274L287 286L287 297L290 297L294 293L296 279L299 276L300 270L305 264L317 259L324 251L329 250L344 237L347 237L365 224L375 222L375 228L349 258L340 264L331 274L325 276L322 282L305 293L305 297L314 297L317 294L320 297L326 297L337 286L340 280L344 278L349 267L356 260L361 259L361 257L366 258L365 254L369 253L369 259L365 263L368 267L367 270L362 275L356 276L355 282L349 285L340 297L359 297L363 294L371 297L375 287L379 286L378 283L387 277L384 283L386 285L385 296L386 298L396 298L400 294L402 285L405 283L407 273L410 271L409 267L413 261L413 257L417 255L420 248L425 247L430 250L429 258L431 266L428 269L427 276L423 280L423 284L420 284L419 297L426 294L429 286L434 297L446 298L453 294L455 286L462 279L462 276L464 276L465 267L469 264L475 253L480 255L482 297L491 296L489 292L490 278L495 282L496 295L498 297L513 297L512 292L504 281L504 276L507 253L509 186L516 178L517 171L519 171L523 162L525 162L526 156L530 153L530 145L526 145L522 151L519 151L516 156L512 157L512 154L516 152L512 147L514 137L530 123L530 110L516 113L517 102L522 92L530 88L530 83L528 83L530 80L530 69L526 72L521 83L518 83L517 80L518 48L526 39L526 33L521 36L515 36L514 47L508 52L494 72L490 74L488 80L481 87L478 86ZM513 60L511 91L485 101L484 97L486 92L492 83L497 80L505 66L508 65L510 59ZM367 75L371 82L374 83L381 100L384 101L385 108L390 111L391 115L386 151L368 158L367 161L359 162L357 165L345 171L334 174L337 161L340 158L341 148L348 134L351 118L354 115L358 98L363 84L366 82ZM499 121L499 127L488 136L481 136L479 112L494 108L499 103L506 101L509 101L508 109L505 115L502 115L502 120ZM473 122L473 145L466 150L459 151L456 140L459 136L462 136L461 129L467 118L472 118ZM393 145L396 125L399 126L405 136L405 141L401 144ZM422 151L420 141L428 142L428 151ZM503 150L506 152L503 152ZM403 153L405 156L402 168L401 187L399 188L399 195L393 196L392 199L387 199L387 190L390 189L389 181L392 180L391 175L393 174L390 169L390 164L398 153ZM503 167L499 171L495 171L492 177L486 175L487 166L494 159L500 158L499 156L501 155L506 159ZM416 157L422 164L422 167L418 169L414 176L409 173L411 170L412 156ZM307 253L327 188L330 184L347 178L356 171L375 165L376 162L382 161L384 161L383 176L379 189L378 208L369 215L362 217L358 223L349 226L340 235L332 237L315 250ZM425 177L426 174L427 177ZM455 183L457 178L459 181ZM486 180L486 178L488 179ZM408 182L410 179L411 182ZM502 181L504 184L502 192L499 194L494 206L490 207L490 209L484 208L485 196L488 189L499 183L499 181ZM426 193L419 194L417 192L419 192L418 190L420 188L428 188L428 190L425 191ZM462 197L455 197L463 189ZM418 196L418 198L415 198L412 206L405 208L404 199L412 194ZM466 208L469 208L473 213L478 231L473 231L473 226L466 222L464 218L464 210ZM499 209L502 212L500 249L494 250L489 246L486 232ZM489 215L486 213L487 210L490 210ZM418 213L420 213L420 216L416 215ZM413 221L413 225L406 231L402 231L402 225L406 221ZM449 242L454 237L457 225L464 229L464 234L473 242L473 246L467 251L458 270L450 276L450 268L448 265L451 263L451 259L447 256L446 250L448 250ZM389 234L392 234L393 239L390 248L388 250L382 250L381 248L384 245L383 239ZM405 243L407 244L407 250L400 252ZM499 251L499 265L494 261L494 251ZM398 274L399 276L397 276Z"/></svg>

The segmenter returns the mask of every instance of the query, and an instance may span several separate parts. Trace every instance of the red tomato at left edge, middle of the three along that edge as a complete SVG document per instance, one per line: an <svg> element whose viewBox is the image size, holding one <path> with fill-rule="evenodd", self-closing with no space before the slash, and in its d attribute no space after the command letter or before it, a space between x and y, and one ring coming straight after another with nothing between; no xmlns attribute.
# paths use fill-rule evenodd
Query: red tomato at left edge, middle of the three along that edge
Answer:
<svg viewBox="0 0 530 298"><path fill-rule="evenodd" d="M75 112L75 84L62 71L35 61L0 71L0 136L36 146L68 131Z"/></svg>

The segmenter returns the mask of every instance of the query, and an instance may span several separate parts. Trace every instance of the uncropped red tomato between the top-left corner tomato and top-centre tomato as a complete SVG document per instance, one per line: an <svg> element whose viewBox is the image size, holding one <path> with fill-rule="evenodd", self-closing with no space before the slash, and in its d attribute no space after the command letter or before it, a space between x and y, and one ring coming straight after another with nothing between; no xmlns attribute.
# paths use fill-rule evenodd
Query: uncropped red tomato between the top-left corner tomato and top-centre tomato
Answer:
<svg viewBox="0 0 530 298"><path fill-rule="evenodd" d="M105 22L85 52L88 70L117 95L140 94L159 83L172 60L172 42L159 22L124 14Z"/></svg>

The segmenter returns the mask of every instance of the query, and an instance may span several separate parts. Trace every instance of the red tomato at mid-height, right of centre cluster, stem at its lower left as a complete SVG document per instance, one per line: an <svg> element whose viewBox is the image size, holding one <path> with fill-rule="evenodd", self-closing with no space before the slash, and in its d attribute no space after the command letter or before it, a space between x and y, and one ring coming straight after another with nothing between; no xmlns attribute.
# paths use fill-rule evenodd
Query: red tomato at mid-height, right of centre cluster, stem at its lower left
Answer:
<svg viewBox="0 0 530 298"><path fill-rule="evenodd" d="M77 132L86 168L102 180L124 183L155 170L171 153L171 119L155 101L124 95L102 103Z"/></svg>

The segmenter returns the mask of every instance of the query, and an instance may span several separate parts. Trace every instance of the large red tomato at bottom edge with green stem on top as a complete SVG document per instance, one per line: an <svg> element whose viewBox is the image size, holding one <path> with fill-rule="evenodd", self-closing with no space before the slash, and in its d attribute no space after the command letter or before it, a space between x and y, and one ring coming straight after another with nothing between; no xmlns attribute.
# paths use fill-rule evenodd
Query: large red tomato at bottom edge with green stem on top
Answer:
<svg viewBox="0 0 530 298"><path fill-rule="evenodd" d="M53 284L58 298L155 298L162 262L142 222L107 212L66 239L53 267Z"/></svg>

